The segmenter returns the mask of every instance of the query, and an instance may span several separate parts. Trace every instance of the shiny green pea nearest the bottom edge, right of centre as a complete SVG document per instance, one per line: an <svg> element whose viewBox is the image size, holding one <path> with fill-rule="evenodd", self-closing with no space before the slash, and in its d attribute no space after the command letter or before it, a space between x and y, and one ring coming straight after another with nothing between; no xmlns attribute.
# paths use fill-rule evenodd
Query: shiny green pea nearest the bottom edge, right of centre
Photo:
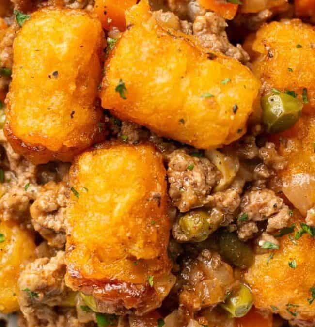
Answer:
<svg viewBox="0 0 315 327"><path fill-rule="evenodd" d="M232 292L224 303L221 304L221 307L228 311L232 317L243 317L251 310L252 303L252 291L247 285L240 284L239 288Z"/></svg>

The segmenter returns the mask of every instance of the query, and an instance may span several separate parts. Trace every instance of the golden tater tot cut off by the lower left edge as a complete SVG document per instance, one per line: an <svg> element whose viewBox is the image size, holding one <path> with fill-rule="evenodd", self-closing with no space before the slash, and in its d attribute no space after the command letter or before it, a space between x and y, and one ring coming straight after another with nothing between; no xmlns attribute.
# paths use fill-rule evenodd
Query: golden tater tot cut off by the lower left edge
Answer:
<svg viewBox="0 0 315 327"><path fill-rule="evenodd" d="M35 244L31 233L16 223L0 223L0 312L19 309L17 302L21 264L35 259Z"/></svg>

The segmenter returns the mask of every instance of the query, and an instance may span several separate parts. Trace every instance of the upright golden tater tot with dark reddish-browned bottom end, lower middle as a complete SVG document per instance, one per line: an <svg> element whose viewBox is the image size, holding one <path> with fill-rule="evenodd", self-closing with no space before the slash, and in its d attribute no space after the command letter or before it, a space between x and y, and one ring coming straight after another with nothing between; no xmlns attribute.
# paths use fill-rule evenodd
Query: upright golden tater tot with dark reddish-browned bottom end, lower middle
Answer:
<svg viewBox="0 0 315 327"><path fill-rule="evenodd" d="M173 284L161 154L104 145L76 159L70 184L67 285L114 304L108 313L159 306Z"/></svg>

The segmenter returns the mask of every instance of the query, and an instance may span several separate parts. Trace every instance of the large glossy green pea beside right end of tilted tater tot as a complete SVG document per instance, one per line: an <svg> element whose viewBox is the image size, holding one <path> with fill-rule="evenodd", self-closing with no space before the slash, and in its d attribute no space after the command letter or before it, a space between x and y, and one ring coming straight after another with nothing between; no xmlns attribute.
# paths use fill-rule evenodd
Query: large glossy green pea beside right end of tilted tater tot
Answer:
<svg viewBox="0 0 315 327"><path fill-rule="evenodd" d="M302 102L286 93L270 93L261 98L263 122L268 133L278 133L293 126L299 119Z"/></svg>

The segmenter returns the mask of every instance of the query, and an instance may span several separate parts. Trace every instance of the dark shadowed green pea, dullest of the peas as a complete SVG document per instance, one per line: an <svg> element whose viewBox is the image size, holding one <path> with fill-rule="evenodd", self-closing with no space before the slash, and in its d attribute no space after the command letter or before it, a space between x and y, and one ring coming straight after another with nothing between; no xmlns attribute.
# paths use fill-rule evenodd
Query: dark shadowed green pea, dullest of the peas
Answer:
<svg viewBox="0 0 315 327"><path fill-rule="evenodd" d="M231 265L248 268L254 262L252 248L242 242L236 233L221 231L218 234L219 253Z"/></svg>

